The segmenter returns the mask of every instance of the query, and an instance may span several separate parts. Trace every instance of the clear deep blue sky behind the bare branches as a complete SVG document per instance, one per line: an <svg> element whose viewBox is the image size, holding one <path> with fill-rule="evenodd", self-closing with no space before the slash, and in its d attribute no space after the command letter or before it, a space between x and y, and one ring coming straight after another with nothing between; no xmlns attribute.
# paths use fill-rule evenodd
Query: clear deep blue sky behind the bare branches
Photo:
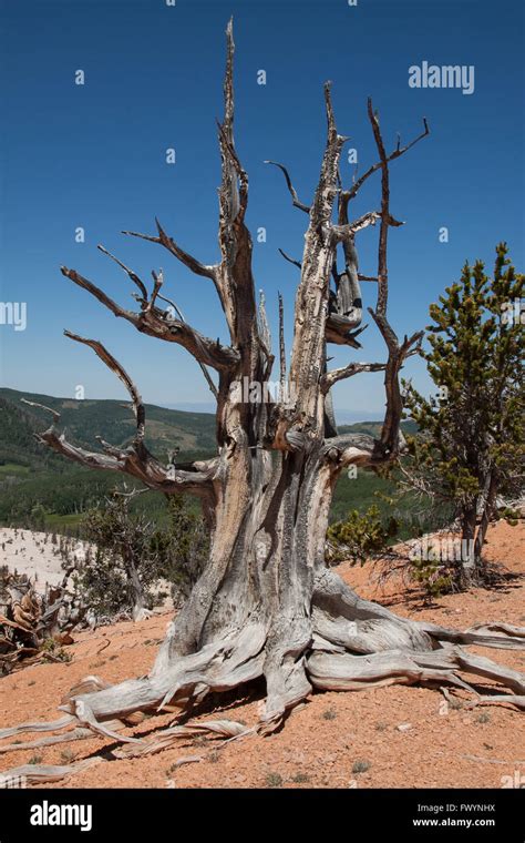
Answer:
<svg viewBox="0 0 525 843"><path fill-rule="evenodd" d="M226 339L210 282L188 274L154 244L122 228L154 232L154 216L203 262L217 258L224 30L234 14L236 142L250 175L248 223L267 228L255 243L255 277L275 326L285 295L288 345L307 217L291 207L285 162L309 201L325 144L322 83L333 82L339 131L351 136L360 171L375 161L367 97L379 109L389 148L421 130L431 136L392 164L391 318L402 334L428 324L428 307L457 277L465 258L493 262L506 240L523 270L523 3L521 0L3 0L1 32L2 210L0 301L27 302L28 327L0 326L1 383L19 389L121 397L114 376L64 327L99 338L125 365L147 402L209 402L183 348L138 335L59 272L65 264L132 305L126 276L96 251L104 244L150 277L163 266L166 294L205 334ZM408 69L474 65L475 91L412 89ZM74 73L85 72L85 84ZM257 71L267 84L257 84ZM165 163L166 148L177 162ZM352 166L342 164L350 182ZM370 180L354 214L379 206ZM74 230L85 228L85 243ZM447 226L450 242L439 242ZM373 230L360 236L361 271L375 270ZM364 288L372 304L372 285ZM168 292L169 291L169 292ZM274 331L274 335L275 335ZM361 352L333 352L336 364L378 360L375 328ZM406 368L426 389L424 367ZM338 385L336 405L364 417L383 405L381 375Z"/></svg>

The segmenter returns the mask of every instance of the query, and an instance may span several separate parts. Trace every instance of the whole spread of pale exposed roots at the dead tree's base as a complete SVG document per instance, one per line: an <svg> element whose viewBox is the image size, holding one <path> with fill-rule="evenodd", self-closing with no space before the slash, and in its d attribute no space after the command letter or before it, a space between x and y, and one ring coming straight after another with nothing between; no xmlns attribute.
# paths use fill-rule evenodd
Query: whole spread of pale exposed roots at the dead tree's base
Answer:
<svg viewBox="0 0 525 843"><path fill-rule="evenodd" d="M275 631L268 636L265 626L254 621L222 641L205 643L197 652L175 657L163 670L157 662L147 677L115 685L99 677L87 677L62 700L60 708L65 717L50 723L25 722L4 729L0 739L22 732L62 734L9 743L0 752L81 740L94 732L120 744L112 751L114 758L136 758L161 752L181 738L205 731L226 741L256 732L266 734L309 695L312 685L325 690L362 690L393 683L450 685L473 695L472 705L511 704L525 709L523 673L467 652L461 646L522 649L525 629L492 623L462 632L400 618L359 598L329 569L316 577L309 623L309 640L305 641L306 623L297 623L297 640L288 636L286 648L279 646L284 639L276 637ZM509 692L494 689L495 693L483 694L465 681L464 674L482 677ZM226 691L259 677L267 680L268 697L259 723L253 729L230 720L214 720L175 724L143 738L122 734L126 724L140 722L141 712L178 710L184 714L209 691ZM83 769L83 762L56 768L27 765L8 774L27 775L31 783L59 781Z"/></svg>

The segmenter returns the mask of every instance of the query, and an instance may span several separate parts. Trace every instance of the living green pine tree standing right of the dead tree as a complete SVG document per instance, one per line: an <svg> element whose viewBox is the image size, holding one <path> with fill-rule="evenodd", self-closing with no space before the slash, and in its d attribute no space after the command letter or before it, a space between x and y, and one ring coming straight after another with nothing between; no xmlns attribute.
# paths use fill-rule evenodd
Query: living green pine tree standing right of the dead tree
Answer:
<svg viewBox="0 0 525 843"><path fill-rule="evenodd" d="M461 280L430 307L430 351L423 354L437 397L406 386L405 407L419 435L409 441L413 485L453 504L469 552L456 581L484 575L482 550L498 496L519 494L523 429L524 276L507 246L496 247L494 275L465 264Z"/></svg>

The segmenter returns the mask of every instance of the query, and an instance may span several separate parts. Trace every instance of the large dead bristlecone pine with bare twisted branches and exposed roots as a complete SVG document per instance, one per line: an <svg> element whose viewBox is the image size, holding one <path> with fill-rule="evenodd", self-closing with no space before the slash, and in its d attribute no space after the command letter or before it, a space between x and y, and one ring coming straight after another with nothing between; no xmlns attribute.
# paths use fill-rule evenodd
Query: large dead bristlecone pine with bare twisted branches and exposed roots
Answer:
<svg viewBox="0 0 525 843"><path fill-rule="evenodd" d="M218 125L219 262L200 263L158 222L156 234L125 232L169 252L199 276L196 283L214 284L229 345L203 336L183 318L176 304L164 295L162 272L153 273L150 292L131 268L100 246L136 287L138 307L134 312L114 302L75 270L62 268L66 278L115 316L157 341L182 345L195 357L217 400L217 455L192 464L159 461L145 446L144 405L131 377L100 342L69 332L71 339L90 346L124 383L136 417L136 433L127 448L100 439L101 450L89 453L59 433L60 418L54 413L52 426L40 435L41 441L81 465L122 471L167 495L187 491L197 496L212 534L209 559L171 623L147 677L114 685L90 677L62 701L60 708L68 715L40 728L71 729L81 723L119 741L133 741L117 730L123 722L136 722L137 712L184 713L210 691L233 689L260 677L266 699L258 729L264 733L275 730L312 688L354 691L393 682L454 685L469 689L478 701L504 700L523 708L525 678L470 654L462 644L523 648L525 629L498 622L460 632L400 618L359 598L325 563L328 514L339 475L351 465L374 468L392 463L404 444L400 434L399 373L406 357L418 349L421 334L400 339L388 317L388 237L390 228L401 224L390 210L389 165L429 134L426 122L415 140L406 145L398 143L389 152L369 101L377 162L347 189L339 175L347 139L338 133L327 83L327 139L312 201L299 200L282 164L267 162L281 171L294 206L305 214L305 250L302 260L292 262L300 275L288 372L282 325L280 329L278 379L285 387L281 399L246 400L243 384L268 383L274 355L264 299L257 303L253 244L245 224L248 175L234 142L233 60L229 23L225 110ZM375 173L381 184L379 209L352 220L352 200ZM371 276L359 273L356 248L358 233L369 225L379 230L378 265ZM385 362L350 362L329 370L328 343L361 347L357 336L362 329L363 282L377 290L375 306L369 311L384 341ZM403 295L402 290L398 288L397 294ZM359 373L379 370L384 373L385 388L380 438L338 436L331 387ZM460 677L465 673L494 680L500 687L485 689L485 695L478 698ZM244 729L231 721L206 725L224 734ZM184 734L187 730L184 727ZM176 728L168 731L169 735L161 732L164 738L158 738L163 746L177 737ZM13 730L9 733L13 734ZM126 751L151 752L152 740L135 740Z"/></svg>

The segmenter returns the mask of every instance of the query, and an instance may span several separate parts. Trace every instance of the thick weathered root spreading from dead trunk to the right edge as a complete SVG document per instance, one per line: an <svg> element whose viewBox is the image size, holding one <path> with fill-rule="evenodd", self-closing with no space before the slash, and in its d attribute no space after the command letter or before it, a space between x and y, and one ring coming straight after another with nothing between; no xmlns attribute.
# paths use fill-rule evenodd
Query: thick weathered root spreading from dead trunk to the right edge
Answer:
<svg viewBox="0 0 525 843"><path fill-rule="evenodd" d="M321 571L316 580L312 620L316 638L308 674L316 688L360 690L393 683L437 683L476 694L459 676L474 673L514 692L485 698L476 694L480 701L509 702L522 708L523 673L469 653L457 644L524 649L525 629L492 623L460 632L399 618L359 598L330 570Z"/></svg>

